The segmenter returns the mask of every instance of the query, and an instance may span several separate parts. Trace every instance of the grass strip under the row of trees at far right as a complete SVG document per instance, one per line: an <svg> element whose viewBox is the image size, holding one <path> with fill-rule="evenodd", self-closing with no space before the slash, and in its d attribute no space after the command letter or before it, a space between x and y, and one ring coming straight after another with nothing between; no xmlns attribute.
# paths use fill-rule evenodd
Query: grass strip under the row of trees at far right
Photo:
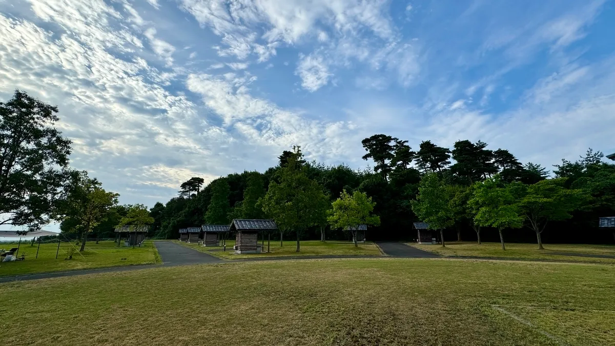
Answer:
<svg viewBox="0 0 615 346"><path fill-rule="evenodd" d="M605 262L615 263L615 258L583 257L584 255L607 255L615 257L613 245L589 245L589 244L544 244L544 250L539 250L536 244L507 243L506 251L502 251L500 243L477 243L451 242L446 247L431 244L410 244L411 246L437 252L446 256L474 256L474 257L504 257L520 259L548 259L548 260L574 260L580 262ZM571 255L557 255L560 252Z"/></svg>

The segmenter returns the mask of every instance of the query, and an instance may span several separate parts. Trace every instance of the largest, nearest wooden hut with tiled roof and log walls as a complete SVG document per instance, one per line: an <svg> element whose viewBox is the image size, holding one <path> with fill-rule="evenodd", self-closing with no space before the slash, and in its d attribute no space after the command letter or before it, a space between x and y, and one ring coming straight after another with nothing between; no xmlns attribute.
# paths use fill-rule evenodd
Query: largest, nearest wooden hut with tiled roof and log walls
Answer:
<svg viewBox="0 0 615 346"><path fill-rule="evenodd" d="M234 219L229 231L234 232L236 254L260 254L261 246L258 244L258 233L277 231L274 220L244 220Z"/></svg>

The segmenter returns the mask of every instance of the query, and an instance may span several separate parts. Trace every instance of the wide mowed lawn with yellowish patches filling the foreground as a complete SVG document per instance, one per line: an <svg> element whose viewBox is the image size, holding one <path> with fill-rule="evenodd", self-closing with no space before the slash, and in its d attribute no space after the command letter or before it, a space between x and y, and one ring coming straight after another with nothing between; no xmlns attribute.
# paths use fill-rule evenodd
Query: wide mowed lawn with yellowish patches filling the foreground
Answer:
<svg viewBox="0 0 615 346"><path fill-rule="evenodd" d="M319 259L0 284L7 345L615 345L615 267Z"/></svg>

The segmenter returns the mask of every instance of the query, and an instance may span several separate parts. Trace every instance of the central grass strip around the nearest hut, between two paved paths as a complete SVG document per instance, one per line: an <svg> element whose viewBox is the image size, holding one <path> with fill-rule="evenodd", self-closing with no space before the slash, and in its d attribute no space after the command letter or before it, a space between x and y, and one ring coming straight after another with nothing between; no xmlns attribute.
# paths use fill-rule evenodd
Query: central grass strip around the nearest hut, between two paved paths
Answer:
<svg viewBox="0 0 615 346"><path fill-rule="evenodd" d="M295 241L284 241L284 246L280 247L280 241L272 241L269 244L270 252L262 252L260 254L241 254L237 255L233 251L232 247L235 244L234 240L226 241L226 252L221 251L223 247L212 246L204 247L199 244L187 244L177 241L182 245L192 247L208 254L223 257L224 259L249 259L258 257L288 257L288 256L314 256L314 255L381 255L378 246L373 243L359 244L358 247L354 246L354 243L348 243L347 241L319 241L319 240L305 240L301 241L300 252L296 252ZM258 242L261 244L261 242ZM264 251L267 251L267 241L264 243Z"/></svg>

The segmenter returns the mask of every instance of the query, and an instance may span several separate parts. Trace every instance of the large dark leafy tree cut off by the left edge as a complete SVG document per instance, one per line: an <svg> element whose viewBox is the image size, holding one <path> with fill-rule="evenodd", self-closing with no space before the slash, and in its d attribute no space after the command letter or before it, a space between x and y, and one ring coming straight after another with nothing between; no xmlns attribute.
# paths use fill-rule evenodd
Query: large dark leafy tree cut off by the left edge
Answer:
<svg viewBox="0 0 615 346"><path fill-rule="evenodd" d="M0 225L38 229L60 220L71 141L54 127L57 113L22 91L0 102Z"/></svg>

